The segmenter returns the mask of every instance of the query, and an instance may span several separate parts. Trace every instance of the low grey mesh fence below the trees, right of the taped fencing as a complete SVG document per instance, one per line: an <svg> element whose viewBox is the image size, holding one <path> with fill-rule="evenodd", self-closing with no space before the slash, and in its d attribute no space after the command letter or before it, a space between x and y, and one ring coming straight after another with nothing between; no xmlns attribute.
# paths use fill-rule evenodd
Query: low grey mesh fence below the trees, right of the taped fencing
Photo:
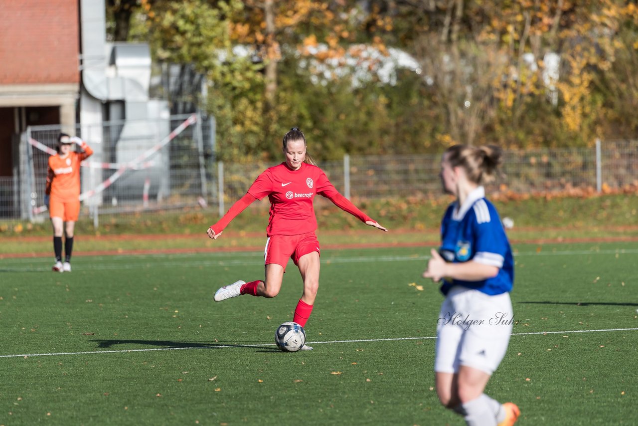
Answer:
<svg viewBox="0 0 638 426"><path fill-rule="evenodd" d="M319 164L347 197L391 199L440 194L440 155L345 156ZM274 164L221 165L218 199L234 201L266 167ZM218 169L219 170L219 169ZM638 185L638 142L600 142L591 148L506 151L491 190L517 193L561 192L573 188L601 192L604 188Z"/></svg>

